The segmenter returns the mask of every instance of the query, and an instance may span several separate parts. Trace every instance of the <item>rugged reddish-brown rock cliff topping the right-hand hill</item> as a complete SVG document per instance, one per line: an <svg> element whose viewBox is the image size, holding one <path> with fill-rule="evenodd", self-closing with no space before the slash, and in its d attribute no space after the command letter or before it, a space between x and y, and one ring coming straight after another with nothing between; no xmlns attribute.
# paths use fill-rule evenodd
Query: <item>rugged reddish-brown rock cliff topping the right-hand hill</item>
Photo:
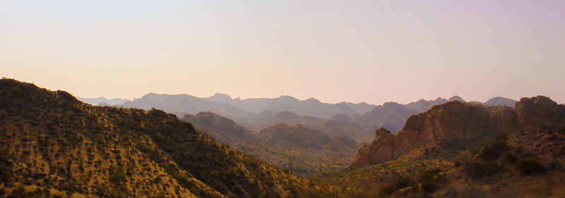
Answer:
<svg viewBox="0 0 565 198"><path fill-rule="evenodd" d="M350 168L383 163L436 142L472 140L516 130L558 130L564 125L565 106L548 97L523 98L515 108L450 101L410 116L396 135L383 128L377 130L376 139L359 149Z"/></svg>

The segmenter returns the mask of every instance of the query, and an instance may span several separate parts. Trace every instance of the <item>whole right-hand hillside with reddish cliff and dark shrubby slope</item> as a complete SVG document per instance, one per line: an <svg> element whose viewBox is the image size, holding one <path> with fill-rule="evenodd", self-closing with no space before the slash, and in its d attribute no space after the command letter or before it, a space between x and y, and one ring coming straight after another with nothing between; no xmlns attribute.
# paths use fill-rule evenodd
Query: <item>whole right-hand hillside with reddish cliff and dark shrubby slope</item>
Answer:
<svg viewBox="0 0 565 198"><path fill-rule="evenodd" d="M451 101L376 130L349 171L325 175L345 197L563 197L565 106Z"/></svg>

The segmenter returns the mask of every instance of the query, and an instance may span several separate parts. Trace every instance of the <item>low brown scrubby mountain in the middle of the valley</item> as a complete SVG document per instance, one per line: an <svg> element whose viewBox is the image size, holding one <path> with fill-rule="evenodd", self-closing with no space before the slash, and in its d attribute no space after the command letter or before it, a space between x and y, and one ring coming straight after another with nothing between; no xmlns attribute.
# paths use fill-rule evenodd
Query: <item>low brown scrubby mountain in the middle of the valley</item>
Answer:
<svg viewBox="0 0 565 198"><path fill-rule="evenodd" d="M343 170L351 163L357 142L348 137L328 137L303 125L278 124L257 132L234 148L299 175Z"/></svg>

